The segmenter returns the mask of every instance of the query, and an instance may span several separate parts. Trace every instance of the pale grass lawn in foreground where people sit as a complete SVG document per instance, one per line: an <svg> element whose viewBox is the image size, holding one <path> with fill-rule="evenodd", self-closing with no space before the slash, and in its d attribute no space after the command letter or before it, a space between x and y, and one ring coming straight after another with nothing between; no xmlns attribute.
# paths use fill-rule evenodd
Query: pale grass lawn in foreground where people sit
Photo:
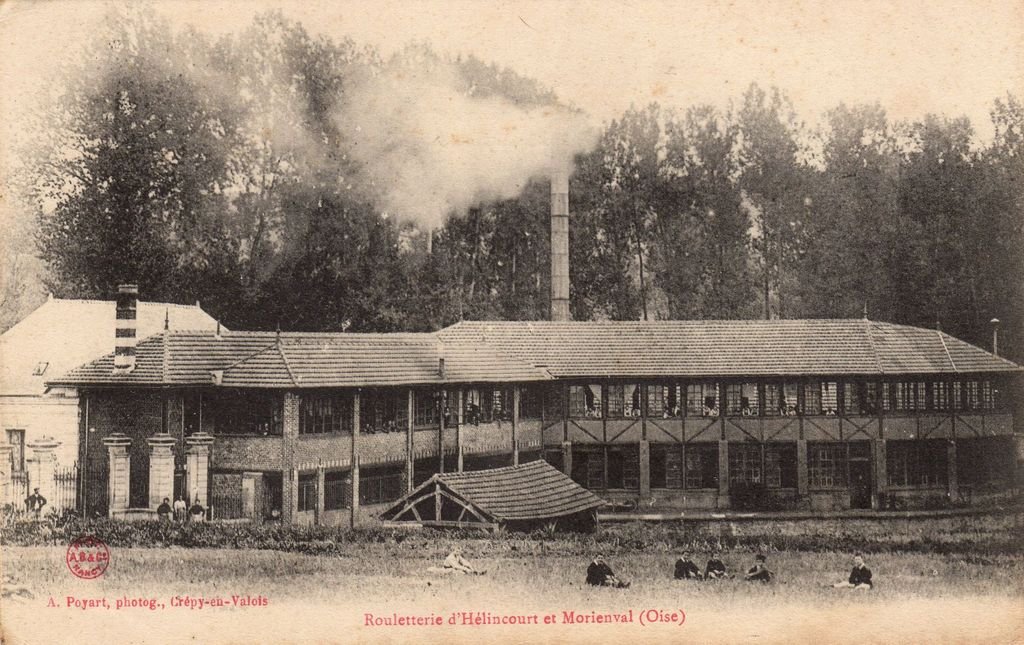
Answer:
<svg viewBox="0 0 1024 645"><path fill-rule="evenodd" d="M609 556L629 590L583 584L588 556L503 552L465 541L483 576L430 574L434 550L415 545L351 544L340 555L255 550L112 549L106 573L73 577L62 547L4 547L5 574L34 594L0 607L11 642L1014 642L1024 640L1024 558L965 558L920 553L874 554L870 592L837 591L849 554L773 553L770 585L738 579L672 579L669 553ZM702 564L706 556L696 559ZM733 570L752 553L727 552ZM265 606L188 609L172 598L262 596ZM105 598L110 609L67 607L68 597ZM57 607L48 607L50 598ZM119 599L153 601L156 609L116 609ZM257 602L261 602L257 600ZM632 615L629 613L632 610ZM575 616L626 614L618 625L567 624ZM453 612L537 616L539 625L447 625ZM682 625L678 620L685 612ZM367 626L367 613L440 617L442 626ZM655 615L656 614L656 615ZM457 621L461 621L457 615ZM553 622L545 626L546 616ZM650 624L664 617L669 622ZM644 625L641 625L643 618ZM518 618L517 618L518 619ZM594 618L596 619L596 617ZM484 620L486 621L486 620ZM614 636L613 636L614 635Z"/></svg>

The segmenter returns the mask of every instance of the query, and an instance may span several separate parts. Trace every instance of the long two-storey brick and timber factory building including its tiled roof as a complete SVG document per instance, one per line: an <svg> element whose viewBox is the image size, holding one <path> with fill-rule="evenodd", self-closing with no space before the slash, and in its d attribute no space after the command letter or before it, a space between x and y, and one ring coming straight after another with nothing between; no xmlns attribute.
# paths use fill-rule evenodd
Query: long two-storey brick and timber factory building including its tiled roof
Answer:
<svg viewBox="0 0 1024 645"><path fill-rule="evenodd" d="M436 472L544 459L645 512L1012 494L1021 369L869 320L460 322L435 334L167 331L82 392L87 514L359 524Z"/></svg>

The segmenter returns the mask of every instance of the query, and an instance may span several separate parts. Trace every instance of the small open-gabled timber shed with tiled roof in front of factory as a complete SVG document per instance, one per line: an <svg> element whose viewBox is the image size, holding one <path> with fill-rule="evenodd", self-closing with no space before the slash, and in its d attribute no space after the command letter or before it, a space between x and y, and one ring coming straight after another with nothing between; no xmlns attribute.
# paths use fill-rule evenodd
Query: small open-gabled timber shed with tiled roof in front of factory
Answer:
<svg viewBox="0 0 1024 645"><path fill-rule="evenodd" d="M380 517L437 527L529 529L555 523L587 528L604 500L544 461L438 473Z"/></svg>

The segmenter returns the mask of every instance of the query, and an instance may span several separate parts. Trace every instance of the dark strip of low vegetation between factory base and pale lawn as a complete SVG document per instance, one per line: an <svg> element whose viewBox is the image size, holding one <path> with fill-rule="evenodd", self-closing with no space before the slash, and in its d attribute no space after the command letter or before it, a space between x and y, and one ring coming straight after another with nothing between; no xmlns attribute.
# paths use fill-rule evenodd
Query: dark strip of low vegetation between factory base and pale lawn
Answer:
<svg viewBox="0 0 1024 645"><path fill-rule="evenodd" d="M701 524L608 524L593 532L562 532L553 527L528 533L473 529L407 529L371 526L356 529L248 522L123 522L84 520L68 514L40 521L17 521L0 527L0 545L67 545L93 535L110 547L184 547L265 549L310 555L366 556L380 549L423 557L443 557L454 541L471 544L490 556L562 555L588 557L605 553L854 552L962 554L968 558L1024 555L1020 512L955 519L882 518L871 523L850 520L802 521L799 527L767 521L744 528L729 521Z"/></svg>

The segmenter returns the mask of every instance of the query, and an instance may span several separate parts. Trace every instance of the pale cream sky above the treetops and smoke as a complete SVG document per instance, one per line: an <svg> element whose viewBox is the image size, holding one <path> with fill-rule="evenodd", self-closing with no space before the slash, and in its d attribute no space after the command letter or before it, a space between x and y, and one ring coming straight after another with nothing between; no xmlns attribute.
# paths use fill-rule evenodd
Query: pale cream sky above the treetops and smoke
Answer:
<svg viewBox="0 0 1024 645"><path fill-rule="evenodd" d="M1024 93L1024 2L266 2L155 0L174 24L241 31L272 8L390 53L428 42L554 88L595 124L657 100L726 106L775 85L814 123L840 102L894 119L966 115L991 136L993 99ZM0 0L0 189L24 116L124 2ZM45 98L43 98L45 100ZM2 195L0 195L2 197ZM3 204L0 202L0 210Z"/></svg>

